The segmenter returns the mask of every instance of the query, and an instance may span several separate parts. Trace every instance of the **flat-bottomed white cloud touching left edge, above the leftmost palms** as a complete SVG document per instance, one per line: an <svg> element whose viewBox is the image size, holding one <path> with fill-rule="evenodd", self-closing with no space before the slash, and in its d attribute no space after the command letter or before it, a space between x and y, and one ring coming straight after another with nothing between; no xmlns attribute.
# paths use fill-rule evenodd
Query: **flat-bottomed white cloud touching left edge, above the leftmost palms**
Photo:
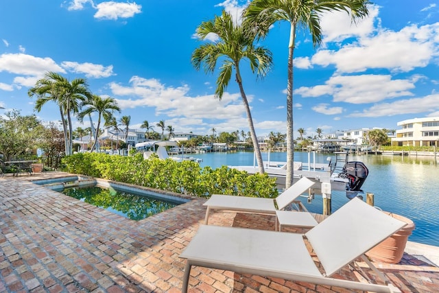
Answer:
<svg viewBox="0 0 439 293"><path fill-rule="evenodd" d="M37 76L43 76L46 71L66 73L51 58L40 58L21 53L0 55L0 71Z"/></svg>

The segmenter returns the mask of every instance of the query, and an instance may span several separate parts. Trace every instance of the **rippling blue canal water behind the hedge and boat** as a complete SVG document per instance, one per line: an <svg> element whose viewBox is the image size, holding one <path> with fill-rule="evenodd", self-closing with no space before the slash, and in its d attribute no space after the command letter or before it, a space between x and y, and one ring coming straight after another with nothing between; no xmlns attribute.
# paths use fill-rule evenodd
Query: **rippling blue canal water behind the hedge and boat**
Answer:
<svg viewBox="0 0 439 293"><path fill-rule="evenodd" d="M213 168L222 165L253 165L252 152L212 152L191 154L203 161L202 167ZM268 153L262 153L268 161ZM295 152L294 161L308 162L309 153ZM327 163L332 154L315 154L316 163ZM310 154L313 162L313 153ZM286 161L285 152L272 152L270 161ZM375 194L375 206L406 218L410 218L416 228L409 240L439 246L439 164L433 156L386 156L386 155L349 155L348 161L362 161L369 169L369 175L361 189ZM307 209L322 213L322 197L316 196L311 204L302 200ZM332 210L335 211L348 202L342 191L333 191Z"/></svg>

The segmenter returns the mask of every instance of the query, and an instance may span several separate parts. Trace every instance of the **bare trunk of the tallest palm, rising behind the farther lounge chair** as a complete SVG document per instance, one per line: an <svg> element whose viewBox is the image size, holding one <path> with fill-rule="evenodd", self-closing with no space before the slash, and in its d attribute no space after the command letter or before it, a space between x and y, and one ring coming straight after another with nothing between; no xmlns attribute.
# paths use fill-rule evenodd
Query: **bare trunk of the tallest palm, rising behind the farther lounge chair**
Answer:
<svg viewBox="0 0 439 293"><path fill-rule="evenodd" d="M293 56L296 38L296 25L292 23L289 31L288 46L288 82L287 82L287 178L285 189L293 184L294 179L294 129L293 129Z"/></svg>

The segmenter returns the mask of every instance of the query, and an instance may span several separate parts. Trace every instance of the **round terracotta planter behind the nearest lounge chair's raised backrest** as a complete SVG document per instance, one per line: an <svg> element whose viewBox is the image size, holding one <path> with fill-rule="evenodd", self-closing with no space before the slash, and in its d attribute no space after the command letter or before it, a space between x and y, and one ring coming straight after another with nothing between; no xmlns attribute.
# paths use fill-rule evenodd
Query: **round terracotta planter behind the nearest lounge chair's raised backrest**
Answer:
<svg viewBox="0 0 439 293"><path fill-rule="evenodd" d="M369 250L366 255L375 261L381 261L383 263L399 263L403 258L407 239L412 235L412 231L414 230L414 222L402 215L396 215L388 211L383 211L383 213L387 213L397 220L406 222L407 225Z"/></svg>

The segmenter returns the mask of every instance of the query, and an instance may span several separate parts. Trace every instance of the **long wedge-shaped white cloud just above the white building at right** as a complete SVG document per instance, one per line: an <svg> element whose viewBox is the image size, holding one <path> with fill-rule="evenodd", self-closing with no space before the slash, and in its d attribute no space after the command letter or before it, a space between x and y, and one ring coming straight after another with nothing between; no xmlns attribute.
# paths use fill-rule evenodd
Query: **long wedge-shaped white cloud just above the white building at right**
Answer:
<svg viewBox="0 0 439 293"><path fill-rule="evenodd" d="M353 113L348 117L383 117L417 113L437 113L439 110L439 94L401 99L392 103L374 105L363 112Z"/></svg>

